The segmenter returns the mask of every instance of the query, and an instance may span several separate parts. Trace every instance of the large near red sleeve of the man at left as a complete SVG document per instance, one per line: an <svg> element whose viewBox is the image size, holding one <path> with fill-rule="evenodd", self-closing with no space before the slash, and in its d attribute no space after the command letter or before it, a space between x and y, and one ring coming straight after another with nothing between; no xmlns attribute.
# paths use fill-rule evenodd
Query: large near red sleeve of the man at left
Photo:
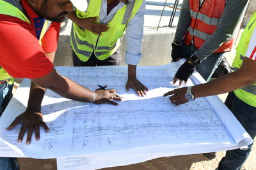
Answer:
<svg viewBox="0 0 256 170"><path fill-rule="evenodd" d="M19 18L0 15L0 66L16 78L38 78L52 70L33 27Z"/></svg>

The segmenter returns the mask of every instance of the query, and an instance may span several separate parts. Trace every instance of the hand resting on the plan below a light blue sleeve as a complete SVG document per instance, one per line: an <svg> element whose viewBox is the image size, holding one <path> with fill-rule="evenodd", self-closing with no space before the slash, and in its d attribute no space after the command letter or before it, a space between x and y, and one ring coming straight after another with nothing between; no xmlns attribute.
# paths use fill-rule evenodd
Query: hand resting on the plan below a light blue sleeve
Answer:
<svg viewBox="0 0 256 170"><path fill-rule="evenodd" d="M129 77L126 83L126 91L129 91L129 88L132 87L132 89L135 90L135 92L138 94L138 96L145 96L148 91L148 88L145 87L136 77Z"/></svg>

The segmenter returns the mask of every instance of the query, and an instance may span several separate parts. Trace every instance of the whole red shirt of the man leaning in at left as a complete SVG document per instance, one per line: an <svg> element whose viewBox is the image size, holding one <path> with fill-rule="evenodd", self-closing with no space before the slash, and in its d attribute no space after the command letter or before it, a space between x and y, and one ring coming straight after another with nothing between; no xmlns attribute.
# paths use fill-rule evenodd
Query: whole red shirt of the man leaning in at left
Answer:
<svg viewBox="0 0 256 170"><path fill-rule="evenodd" d="M16 78L45 76L53 67L45 52L56 51L60 23L52 22L40 46L36 38L36 30L40 31L40 26L38 28L35 24L39 17L25 0L20 0L20 4L31 24L16 17L0 15L0 66Z"/></svg>

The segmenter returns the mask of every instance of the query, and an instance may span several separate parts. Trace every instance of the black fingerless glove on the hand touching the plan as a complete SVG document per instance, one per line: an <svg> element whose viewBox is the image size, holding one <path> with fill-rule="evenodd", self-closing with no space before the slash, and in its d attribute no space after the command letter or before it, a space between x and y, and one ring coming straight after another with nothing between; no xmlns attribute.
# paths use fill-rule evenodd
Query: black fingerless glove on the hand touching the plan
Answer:
<svg viewBox="0 0 256 170"><path fill-rule="evenodd" d="M188 81L189 76L195 71L195 64L189 64L188 61L182 64L177 73L175 74L175 78L179 78L182 81Z"/></svg>

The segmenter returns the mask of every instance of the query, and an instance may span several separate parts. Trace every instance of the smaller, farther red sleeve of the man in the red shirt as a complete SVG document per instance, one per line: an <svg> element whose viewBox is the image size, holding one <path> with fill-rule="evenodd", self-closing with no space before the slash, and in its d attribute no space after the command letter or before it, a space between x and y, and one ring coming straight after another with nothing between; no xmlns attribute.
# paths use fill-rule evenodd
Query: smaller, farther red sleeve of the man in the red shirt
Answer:
<svg viewBox="0 0 256 170"><path fill-rule="evenodd" d="M60 23L52 22L42 38L42 48L44 52L56 52L60 34Z"/></svg>

